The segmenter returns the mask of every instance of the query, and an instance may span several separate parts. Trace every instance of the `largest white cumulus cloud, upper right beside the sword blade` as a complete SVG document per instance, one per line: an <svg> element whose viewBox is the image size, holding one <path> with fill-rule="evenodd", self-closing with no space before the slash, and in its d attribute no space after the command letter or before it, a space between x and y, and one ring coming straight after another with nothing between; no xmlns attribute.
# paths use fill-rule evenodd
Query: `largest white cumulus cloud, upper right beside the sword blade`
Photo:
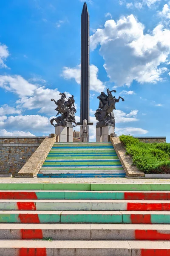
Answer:
<svg viewBox="0 0 170 256"><path fill-rule="evenodd" d="M103 29L91 35L91 49L100 45L105 60L105 70L116 86L162 81L162 73L170 54L170 30L156 26L150 34L144 33L144 25L129 15L117 22L107 20Z"/></svg>

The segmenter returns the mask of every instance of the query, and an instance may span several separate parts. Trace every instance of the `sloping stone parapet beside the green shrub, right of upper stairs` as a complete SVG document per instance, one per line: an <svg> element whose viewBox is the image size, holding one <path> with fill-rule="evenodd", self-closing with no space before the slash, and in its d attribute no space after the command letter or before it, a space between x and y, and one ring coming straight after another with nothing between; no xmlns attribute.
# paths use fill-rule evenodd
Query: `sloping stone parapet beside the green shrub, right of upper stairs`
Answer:
<svg viewBox="0 0 170 256"><path fill-rule="evenodd" d="M111 137L111 143L113 144L126 175L129 177L144 177L144 172L139 171L139 169L133 165L132 157L126 154L125 146L121 143L119 137Z"/></svg>

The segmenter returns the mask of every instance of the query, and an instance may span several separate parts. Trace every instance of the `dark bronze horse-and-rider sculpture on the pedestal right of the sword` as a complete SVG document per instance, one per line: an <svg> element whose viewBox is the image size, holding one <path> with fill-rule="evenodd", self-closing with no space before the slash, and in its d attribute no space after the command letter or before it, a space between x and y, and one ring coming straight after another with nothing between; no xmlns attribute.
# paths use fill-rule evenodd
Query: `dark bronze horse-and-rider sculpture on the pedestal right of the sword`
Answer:
<svg viewBox="0 0 170 256"><path fill-rule="evenodd" d="M120 96L119 99L116 99L116 97L112 95L112 92L116 93L116 90L110 91L108 88L108 95L106 95L104 92L101 92L101 94L97 97L97 99L99 99L99 108L96 110L94 115L96 116L96 119L99 121L101 126L106 126L109 123L115 128L113 110L116 109L116 102L119 102L120 99L124 101L124 99Z"/></svg>

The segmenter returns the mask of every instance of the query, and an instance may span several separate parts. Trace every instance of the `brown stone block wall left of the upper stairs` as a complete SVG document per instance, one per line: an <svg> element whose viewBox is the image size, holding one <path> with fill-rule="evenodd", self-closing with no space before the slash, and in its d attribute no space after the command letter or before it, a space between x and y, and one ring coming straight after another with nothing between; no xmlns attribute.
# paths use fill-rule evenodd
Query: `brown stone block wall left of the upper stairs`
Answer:
<svg viewBox="0 0 170 256"><path fill-rule="evenodd" d="M17 173L45 137L0 137L0 174Z"/></svg>

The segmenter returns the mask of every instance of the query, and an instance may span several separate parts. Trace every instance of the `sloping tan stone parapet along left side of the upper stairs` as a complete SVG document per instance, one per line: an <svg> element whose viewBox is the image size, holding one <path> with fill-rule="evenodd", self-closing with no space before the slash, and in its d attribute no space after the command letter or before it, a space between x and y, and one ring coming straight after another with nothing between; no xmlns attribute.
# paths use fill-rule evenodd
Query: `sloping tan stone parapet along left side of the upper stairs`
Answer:
<svg viewBox="0 0 170 256"><path fill-rule="evenodd" d="M37 150L32 154L17 176L34 177L40 171L49 151L56 142L56 136L46 137Z"/></svg>

